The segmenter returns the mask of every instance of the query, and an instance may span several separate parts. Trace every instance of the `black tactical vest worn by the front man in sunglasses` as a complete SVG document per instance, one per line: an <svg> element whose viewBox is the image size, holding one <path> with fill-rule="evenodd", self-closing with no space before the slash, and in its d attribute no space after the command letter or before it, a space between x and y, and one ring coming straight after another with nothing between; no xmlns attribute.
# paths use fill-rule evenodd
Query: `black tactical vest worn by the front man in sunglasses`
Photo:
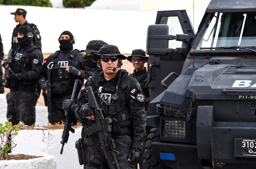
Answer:
<svg viewBox="0 0 256 169"><path fill-rule="evenodd" d="M116 75L117 80L113 82L114 84L109 85L109 87L102 88L101 93L111 93L113 96L114 94L116 94L116 85L118 85L118 88L117 88L118 97L116 100L110 99L108 102L109 98L104 97L105 102L107 102L108 104L110 103L110 105L106 105L103 101L101 101L101 99L99 98L100 96L98 95L99 80L102 74L103 73L97 73L94 76L92 83L89 83L89 86L92 87L92 90L94 91L94 95L97 98L97 102L100 105L100 107L103 109L104 116L111 117L112 119L111 136L125 135L125 134L129 134L132 136L132 126L131 126L132 120L131 120L131 115L129 110L128 96L126 95L126 91L123 84L123 80L125 76L128 74L128 72L126 72L124 69L120 69L118 74ZM121 106L121 103L123 104L123 106ZM123 111L121 112L121 110Z"/></svg>

